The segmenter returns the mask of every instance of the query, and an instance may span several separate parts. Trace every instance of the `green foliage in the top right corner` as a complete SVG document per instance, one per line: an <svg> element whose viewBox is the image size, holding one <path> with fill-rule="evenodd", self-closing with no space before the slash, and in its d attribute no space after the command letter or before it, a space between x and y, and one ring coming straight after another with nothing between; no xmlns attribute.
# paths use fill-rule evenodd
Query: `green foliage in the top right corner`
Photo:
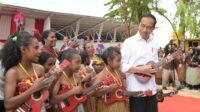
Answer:
<svg viewBox="0 0 200 112"><path fill-rule="evenodd" d="M184 39L185 33L189 32L189 38L200 37L200 1L188 2L186 0L177 0L177 11L173 20L173 25Z"/></svg>

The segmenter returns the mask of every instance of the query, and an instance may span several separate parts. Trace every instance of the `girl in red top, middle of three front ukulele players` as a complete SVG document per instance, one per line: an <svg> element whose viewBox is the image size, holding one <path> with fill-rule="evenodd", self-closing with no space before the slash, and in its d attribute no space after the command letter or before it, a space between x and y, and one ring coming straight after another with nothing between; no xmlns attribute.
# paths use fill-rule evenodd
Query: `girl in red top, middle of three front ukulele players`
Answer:
<svg viewBox="0 0 200 112"><path fill-rule="evenodd" d="M69 65L64 69L62 75L54 85L50 102L58 104L56 112L82 112L84 111L83 105L75 105L76 102L70 100L74 95L80 94L82 90L82 87L79 86L81 76L77 74L81 65L81 57L78 54L78 51L68 48L67 50L62 51L60 62L65 59L69 61ZM75 108L71 106L74 106Z"/></svg>

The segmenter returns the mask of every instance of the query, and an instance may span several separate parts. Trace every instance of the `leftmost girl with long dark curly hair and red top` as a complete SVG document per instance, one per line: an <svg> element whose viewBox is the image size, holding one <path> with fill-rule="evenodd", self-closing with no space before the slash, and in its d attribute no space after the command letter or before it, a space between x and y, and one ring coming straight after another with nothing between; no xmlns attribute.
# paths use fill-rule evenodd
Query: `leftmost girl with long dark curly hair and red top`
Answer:
<svg viewBox="0 0 200 112"><path fill-rule="evenodd" d="M4 105L7 112L46 111L44 101L49 96L49 78L44 77L44 68L36 64L39 55L38 40L28 32L15 33L4 45L1 59L5 68Z"/></svg>

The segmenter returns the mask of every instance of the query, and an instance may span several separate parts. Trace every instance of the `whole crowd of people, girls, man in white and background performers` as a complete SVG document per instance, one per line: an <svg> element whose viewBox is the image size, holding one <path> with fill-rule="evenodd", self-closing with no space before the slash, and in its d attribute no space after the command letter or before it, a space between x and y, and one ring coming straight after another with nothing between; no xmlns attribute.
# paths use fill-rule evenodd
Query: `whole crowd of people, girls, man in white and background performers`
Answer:
<svg viewBox="0 0 200 112"><path fill-rule="evenodd" d="M42 44L26 31L8 37L1 47L0 106L2 112L157 112L156 78L158 46L151 36L156 25L152 14L140 18L138 32L122 47L97 49L89 40L63 38L55 49L56 35L42 33ZM166 51L168 52L168 51ZM170 63L168 52L163 87ZM199 53L199 52L198 52ZM191 49L189 66L199 66L199 55ZM197 61L196 61L197 60ZM168 67L167 67L168 66ZM177 76L175 75L175 80ZM180 87L180 82L175 81Z"/></svg>

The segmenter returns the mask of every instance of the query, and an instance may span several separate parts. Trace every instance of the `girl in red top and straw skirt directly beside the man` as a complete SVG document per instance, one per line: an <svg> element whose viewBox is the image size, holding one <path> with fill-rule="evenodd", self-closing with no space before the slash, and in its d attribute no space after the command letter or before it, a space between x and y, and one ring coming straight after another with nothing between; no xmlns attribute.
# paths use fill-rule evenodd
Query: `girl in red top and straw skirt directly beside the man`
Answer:
<svg viewBox="0 0 200 112"><path fill-rule="evenodd" d="M96 92L96 94L100 96L97 105L97 112L128 112L126 98L108 103L109 100L112 100L112 94L114 95L118 89L124 88L122 74L119 71L121 61L120 51L117 48L109 47L103 52L102 57L106 66L103 71L95 77L94 84L101 82L107 77L112 77L114 83L109 86L104 86Z"/></svg>

